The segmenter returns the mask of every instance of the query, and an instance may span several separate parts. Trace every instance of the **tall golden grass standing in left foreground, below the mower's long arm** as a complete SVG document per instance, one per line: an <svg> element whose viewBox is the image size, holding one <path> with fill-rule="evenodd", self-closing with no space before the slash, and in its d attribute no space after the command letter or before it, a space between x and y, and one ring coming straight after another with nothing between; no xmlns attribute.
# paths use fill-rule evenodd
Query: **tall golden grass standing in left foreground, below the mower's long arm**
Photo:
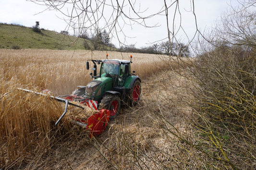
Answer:
<svg viewBox="0 0 256 170"><path fill-rule="evenodd" d="M13 168L15 162L25 163L26 157L47 153L52 143L60 140L56 137L68 132L71 126L64 119L59 127L54 127L63 112L57 101L18 90L20 85L14 79L1 82L0 165Z"/></svg>

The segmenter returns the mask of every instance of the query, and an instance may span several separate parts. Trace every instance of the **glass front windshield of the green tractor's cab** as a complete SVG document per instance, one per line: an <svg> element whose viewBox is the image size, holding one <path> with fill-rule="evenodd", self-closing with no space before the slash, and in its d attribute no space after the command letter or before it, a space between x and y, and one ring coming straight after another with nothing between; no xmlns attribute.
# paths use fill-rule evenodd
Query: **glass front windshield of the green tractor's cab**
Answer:
<svg viewBox="0 0 256 170"><path fill-rule="evenodd" d="M101 77L105 77L107 74L118 76L118 74L119 74L118 61L105 60L101 65L100 74L101 74Z"/></svg>

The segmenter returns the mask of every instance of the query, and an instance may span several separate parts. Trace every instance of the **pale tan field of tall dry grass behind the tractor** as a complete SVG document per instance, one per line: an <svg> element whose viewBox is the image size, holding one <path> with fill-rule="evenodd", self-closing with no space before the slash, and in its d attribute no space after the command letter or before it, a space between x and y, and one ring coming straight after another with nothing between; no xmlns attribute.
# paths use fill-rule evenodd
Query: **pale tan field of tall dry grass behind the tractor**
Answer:
<svg viewBox="0 0 256 170"><path fill-rule="evenodd" d="M55 95L71 94L75 86L91 81L90 70L85 68L87 59L105 58L104 51L3 49L0 51L0 75L4 81L15 78L21 84L48 89ZM130 55L109 53L109 59L116 58L130 60ZM133 61L132 70L142 78L165 67L157 55L135 54Z"/></svg>

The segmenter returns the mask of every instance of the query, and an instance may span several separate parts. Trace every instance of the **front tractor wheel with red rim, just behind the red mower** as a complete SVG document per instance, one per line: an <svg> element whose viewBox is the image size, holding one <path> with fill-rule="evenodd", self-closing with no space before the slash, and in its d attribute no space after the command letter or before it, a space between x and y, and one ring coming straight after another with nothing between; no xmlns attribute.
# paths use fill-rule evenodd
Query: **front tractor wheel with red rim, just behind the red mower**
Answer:
<svg viewBox="0 0 256 170"><path fill-rule="evenodd" d="M100 101L99 108L110 110L110 119L115 119L121 108L121 101L119 96L112 94L104 95L102 100Z"/></svg>

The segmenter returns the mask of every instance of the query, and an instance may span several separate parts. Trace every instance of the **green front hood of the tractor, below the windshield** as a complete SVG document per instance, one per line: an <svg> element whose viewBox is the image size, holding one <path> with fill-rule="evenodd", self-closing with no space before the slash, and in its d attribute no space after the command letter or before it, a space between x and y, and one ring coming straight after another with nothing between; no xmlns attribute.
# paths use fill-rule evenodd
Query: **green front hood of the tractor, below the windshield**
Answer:
<svg viewBox="0 0 256 170"><path fill-rule="evenodd" d="M112 88L112 79L102 77L90 81L86 85L86 96L91 98L101 98L103 91L108 91Z"/></svg>

